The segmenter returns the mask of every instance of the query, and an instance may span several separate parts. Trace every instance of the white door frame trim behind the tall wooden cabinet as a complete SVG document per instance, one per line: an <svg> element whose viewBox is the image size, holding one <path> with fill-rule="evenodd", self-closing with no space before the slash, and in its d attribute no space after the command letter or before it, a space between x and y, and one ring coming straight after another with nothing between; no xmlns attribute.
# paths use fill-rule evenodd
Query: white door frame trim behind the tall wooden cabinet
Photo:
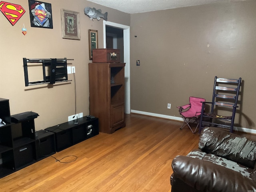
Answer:
<svg viewBox="0 0 256 192"><path fill-rule="evenodd" d="M103 40L104 48L106 48L106 25L116 28L120 28L124 32L124 62L126 63L124 67L124 110L126 114L131 113L131 84L130 84L130 26L103 21Z"/></svg>

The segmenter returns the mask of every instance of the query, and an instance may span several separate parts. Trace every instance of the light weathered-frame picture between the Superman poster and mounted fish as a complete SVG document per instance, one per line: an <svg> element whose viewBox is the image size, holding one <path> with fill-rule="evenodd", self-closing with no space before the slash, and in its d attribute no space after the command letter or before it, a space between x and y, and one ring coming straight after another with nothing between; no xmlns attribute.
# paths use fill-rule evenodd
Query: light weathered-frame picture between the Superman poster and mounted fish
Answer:
<svg viewBox="0 0 256 192"><path fill-rule="evenodd" d="M80 13L61 9L62 38L80 40Z"/></svg>

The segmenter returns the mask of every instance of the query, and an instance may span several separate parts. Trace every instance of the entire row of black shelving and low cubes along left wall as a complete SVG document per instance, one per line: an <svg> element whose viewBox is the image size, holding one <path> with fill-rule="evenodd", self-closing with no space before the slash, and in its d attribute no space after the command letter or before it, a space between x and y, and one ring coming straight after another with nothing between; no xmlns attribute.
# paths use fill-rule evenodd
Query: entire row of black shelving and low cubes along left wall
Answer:
<svg viewBox="0 0 256 192"><path fill-rule="evenodd" d="M98 118L65 122L35 131L38 114L10 116L9 100L0 98L0 178L99 134Z"/></svg>

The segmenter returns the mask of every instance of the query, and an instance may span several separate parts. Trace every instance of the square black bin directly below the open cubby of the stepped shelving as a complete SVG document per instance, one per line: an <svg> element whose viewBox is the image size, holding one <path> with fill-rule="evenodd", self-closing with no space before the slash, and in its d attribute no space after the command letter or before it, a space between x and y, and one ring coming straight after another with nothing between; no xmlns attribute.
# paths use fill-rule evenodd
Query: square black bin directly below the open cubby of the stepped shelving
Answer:
<svg viewBox="0 0 256 192"><path fill-rule="evenodd" d="M34 143L26 144L14 149L15 169L34 162Z"/></svg>

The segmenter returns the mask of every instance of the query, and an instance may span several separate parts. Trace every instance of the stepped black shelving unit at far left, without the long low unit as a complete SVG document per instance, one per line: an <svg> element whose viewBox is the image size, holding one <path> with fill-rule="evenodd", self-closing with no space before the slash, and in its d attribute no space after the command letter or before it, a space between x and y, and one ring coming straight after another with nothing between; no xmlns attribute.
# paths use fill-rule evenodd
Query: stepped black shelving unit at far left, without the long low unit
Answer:
<svg viewBox="0 0 256 192"><path fill-rule="evenodd" d="M0 178L56 152L53 133L36 134L37 116L34 112L10 116L9 100L0 98L0 118L4 122L0 124Z"/></svg>

